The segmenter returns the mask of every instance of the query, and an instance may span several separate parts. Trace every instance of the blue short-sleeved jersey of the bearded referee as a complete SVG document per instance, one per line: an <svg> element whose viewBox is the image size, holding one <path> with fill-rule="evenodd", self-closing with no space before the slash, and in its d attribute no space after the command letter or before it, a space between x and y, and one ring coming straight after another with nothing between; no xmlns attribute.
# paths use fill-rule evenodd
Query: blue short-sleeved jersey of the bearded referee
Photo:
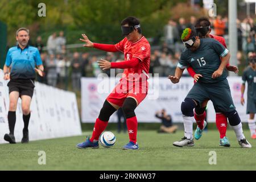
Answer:
<svg viewBox="0 0 256 182"><path fill-rule="evenodd" d="M11 67L11 80L35 79L35 65L42 64L38 48L28 45L23 50L19 45L11 47L5 61L5 65Z"/></svg>

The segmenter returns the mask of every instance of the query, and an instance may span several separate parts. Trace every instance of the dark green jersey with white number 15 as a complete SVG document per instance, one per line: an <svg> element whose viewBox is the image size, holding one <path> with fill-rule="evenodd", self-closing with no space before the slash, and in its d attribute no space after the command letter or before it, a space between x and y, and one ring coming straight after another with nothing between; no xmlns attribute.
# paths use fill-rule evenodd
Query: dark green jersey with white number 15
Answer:
<svg viewBox="0 0 256 182"><path fill-rule="evenodd" d="M196 73L203 76L199 78L199 82L207 84L219 82L224 80L228 73L224 71L220 77L214 79L212 74L220 67L221 57L225 57L228 52L228 49L215 39L200 39L200 46L196 51L183 49L177 67L185 69L191 66Z"/></svg>

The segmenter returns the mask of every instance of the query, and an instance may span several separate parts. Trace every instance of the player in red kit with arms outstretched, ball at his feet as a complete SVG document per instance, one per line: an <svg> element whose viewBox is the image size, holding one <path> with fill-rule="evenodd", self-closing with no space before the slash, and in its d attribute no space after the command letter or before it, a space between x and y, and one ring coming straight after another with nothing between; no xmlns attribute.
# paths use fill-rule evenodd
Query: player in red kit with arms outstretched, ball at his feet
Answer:
<svg viewBox="0 0 256 182"><path fill-rule="evenodd" d="M80 39L86 43L84 47L94 47L108 52L123 52L125 60L118 63L110 63L103 59L98 61L103 70L119 68L124 71L119 84L115 86L101 108L94 125L92 138L77 144L78 148L98 148L98 138L108 125L110 116L122 107L130 138L130 142L123 146L123 149L139 149L137 144L138 121L134 110L147 96L150 44L142 35L141 24L137 18L129 16L122 20L121 29L125 38L115 45L92 43L84 34L82 34L83 39Z"/></svg>

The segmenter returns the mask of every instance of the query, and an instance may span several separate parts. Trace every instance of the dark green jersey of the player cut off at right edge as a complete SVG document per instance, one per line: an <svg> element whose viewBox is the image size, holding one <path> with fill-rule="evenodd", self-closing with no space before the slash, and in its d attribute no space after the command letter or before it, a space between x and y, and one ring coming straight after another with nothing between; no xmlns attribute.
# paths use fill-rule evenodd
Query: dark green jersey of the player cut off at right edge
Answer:
<svg viewBox="0 0 256 182"><path fill-rule="evenodd" d="M243 71L242 82L247 81L247 99L256 101L256 71L250 66Z"/></svg>

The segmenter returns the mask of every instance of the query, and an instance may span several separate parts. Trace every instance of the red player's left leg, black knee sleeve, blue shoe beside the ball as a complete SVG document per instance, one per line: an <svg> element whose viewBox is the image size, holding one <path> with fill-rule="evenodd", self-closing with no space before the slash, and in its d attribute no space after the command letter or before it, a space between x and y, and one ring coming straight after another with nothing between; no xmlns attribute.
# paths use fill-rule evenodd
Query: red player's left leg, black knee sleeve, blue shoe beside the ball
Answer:
<svg viewBox="0 0 256 182"><path fill-rule="evenodd" d="M92 138L89 137L85 142L77 144L77 148L98 148L98 138L100 137L102 131L106 129L110 116L116 111L116 109L109 104L108 101L104 102L104 105L101 108L100 115L96 119Z"/></svg>

